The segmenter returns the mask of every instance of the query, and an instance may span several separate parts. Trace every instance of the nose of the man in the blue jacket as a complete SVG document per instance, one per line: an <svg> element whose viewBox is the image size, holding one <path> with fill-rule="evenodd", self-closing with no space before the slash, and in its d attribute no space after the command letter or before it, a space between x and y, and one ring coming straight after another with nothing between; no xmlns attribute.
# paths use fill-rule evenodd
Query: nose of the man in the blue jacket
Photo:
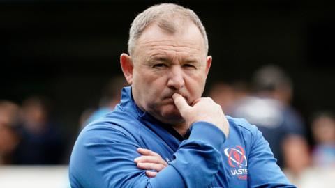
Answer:
<svg viewBox="0 0 335 188"><path fill-rule="evenodd" d="M179 90L184 87L185 81L180 65L172 65L168 77L168 87L170 89Z"/></svg>

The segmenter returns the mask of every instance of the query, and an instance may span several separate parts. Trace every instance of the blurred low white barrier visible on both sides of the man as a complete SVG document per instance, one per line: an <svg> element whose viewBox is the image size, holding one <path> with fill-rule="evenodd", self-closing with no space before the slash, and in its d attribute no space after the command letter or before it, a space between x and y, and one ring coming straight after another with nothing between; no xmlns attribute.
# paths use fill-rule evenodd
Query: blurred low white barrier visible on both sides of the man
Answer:
<svg viewBox="0 0 335 188"><path fill-rule="evenodd" d="M285 171L299 188L334 188L335 169L306 169L295 177ZM1 188L70 188L68 166L0 166Z"/></svg>

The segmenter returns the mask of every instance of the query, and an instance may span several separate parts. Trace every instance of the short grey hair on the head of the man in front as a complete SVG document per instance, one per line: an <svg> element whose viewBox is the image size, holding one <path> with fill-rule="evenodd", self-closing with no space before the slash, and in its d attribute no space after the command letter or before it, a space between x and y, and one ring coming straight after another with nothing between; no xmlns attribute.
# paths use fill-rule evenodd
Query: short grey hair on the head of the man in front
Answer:
<svg viewBox="0 0 335 188"><path fill-rule="evenodd" d="M208 39L206 30L204 29L200 18L193 12L193 10L173 3L161 3L151 6L135 17L129 31L128 53L130 55L134 53L138 38L140 38L144 29L152 22L157 21L158 26L160 26L161 29L168 31L169 33L174 33L176 29L171 21L176 16L178 19L191 21L195 26L198 26L198 29L204 38L204 49L207 54Z"/></svg>

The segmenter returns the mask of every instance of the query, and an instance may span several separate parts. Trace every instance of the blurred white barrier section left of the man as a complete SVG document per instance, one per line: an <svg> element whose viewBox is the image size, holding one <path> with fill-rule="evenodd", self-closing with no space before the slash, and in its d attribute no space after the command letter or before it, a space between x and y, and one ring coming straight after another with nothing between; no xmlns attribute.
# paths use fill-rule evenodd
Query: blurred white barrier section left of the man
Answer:
<svg viewBox="0 0 335 188"><path fill-rule="evenodd" d="M0 166L1 188L69 188L68 166Z"/></svg>

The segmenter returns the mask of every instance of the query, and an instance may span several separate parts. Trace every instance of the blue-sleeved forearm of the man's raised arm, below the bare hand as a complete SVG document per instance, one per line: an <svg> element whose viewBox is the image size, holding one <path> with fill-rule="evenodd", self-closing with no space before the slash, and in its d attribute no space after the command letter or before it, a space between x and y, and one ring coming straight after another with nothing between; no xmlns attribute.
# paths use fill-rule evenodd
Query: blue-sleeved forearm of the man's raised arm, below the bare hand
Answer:
<svg viewBox="0 0 335 188"><path fill-rule="evenodd" d="M208 187L221 164L219 150L225 135L214 125L194 123L188 140L183 141L174 160L156 178L150 179L152 187ZM171 181L175 181L171 182Z"/></svg>

